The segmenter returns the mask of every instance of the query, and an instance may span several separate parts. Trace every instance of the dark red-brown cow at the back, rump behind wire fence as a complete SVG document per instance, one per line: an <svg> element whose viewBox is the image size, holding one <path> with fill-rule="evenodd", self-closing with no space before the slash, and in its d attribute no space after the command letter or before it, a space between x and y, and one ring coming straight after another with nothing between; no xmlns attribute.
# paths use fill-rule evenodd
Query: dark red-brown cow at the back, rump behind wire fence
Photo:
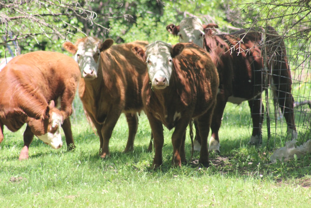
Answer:
<svg viewBox="0 0 311 208"><path fill-rule="evenodd" d="M211 123L212 136L209 150L220 152L218 131L226 102L240 104L248 101L253 120L250 144L261 143L263 105L261 93L265 74L272 77L274 95L286 119L288 134L297 138L291 94L291 75L286 57L285 44L272 27L266 28L265 48L263 34L253 30L239 30L230 34L216 34L216 24L202 25L201 20L185 18L179 26L166 27L180 42L193 42L208 51L217 67L220 92ZM262 51L266 55L262 55ZM266 62L264 62L266 60ZM263 70L267 65L267 70ZM199 140L198 140L199 141Z"/></svg>

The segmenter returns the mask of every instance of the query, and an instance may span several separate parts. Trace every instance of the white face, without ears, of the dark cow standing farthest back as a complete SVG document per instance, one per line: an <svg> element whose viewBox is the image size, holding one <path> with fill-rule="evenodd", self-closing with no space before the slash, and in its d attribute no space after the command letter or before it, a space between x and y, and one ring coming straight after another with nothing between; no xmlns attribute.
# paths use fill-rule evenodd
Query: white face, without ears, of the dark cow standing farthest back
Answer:
<svg viewBox="0 0 311 208"><path fill-rule="evenodd" d="M179 25L179 42L193 42L203 48L204 28L200 19L184 18Z"/></svg>

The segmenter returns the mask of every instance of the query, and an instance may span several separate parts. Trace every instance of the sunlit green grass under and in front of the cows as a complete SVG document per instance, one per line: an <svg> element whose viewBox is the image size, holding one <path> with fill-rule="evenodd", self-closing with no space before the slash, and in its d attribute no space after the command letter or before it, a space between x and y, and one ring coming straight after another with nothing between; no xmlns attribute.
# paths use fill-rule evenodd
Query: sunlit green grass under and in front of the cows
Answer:
<svg viewBox="0 0 311 208"><path fill-rule="evenodd" d="M171 167L173 131L165 129L163 165L151 170L150 127L139 117L133 152L123 153L128 128L124 115L110 140L111 155L100 159L99 139L83 114L72 119L77 148L54 150L39 139L26 161L18 161L24 128L5 129L0 147L1 207L310 207L310 155L270 164L266 145L248 147L247 103L227 104L220 129L221 155L209 168L197 165L186 141L188 165ZM264 143L267 138L264 137ZM64 138L63 138L64 141ZM277 147L275 147L277 148Z"/></svg>

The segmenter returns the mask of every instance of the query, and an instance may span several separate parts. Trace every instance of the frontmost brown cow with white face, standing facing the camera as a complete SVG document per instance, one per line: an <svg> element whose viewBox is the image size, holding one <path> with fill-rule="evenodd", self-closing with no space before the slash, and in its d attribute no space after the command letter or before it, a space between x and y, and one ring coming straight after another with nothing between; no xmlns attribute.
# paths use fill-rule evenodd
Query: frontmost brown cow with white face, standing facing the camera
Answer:
<svg viewBox="0 0 311 208"><path fill-rule="evenodd" d="M179 43L171 46L156 41L137 50L146 60L148 74L144 79L142 99L154 136L153 168L162 164L163 127L174 129L172 135L174 166L186 162L185 132L195 118L202 139L199 162L208 166L207 137L216 104L219 85L216 66L199 46Z"/></svg>

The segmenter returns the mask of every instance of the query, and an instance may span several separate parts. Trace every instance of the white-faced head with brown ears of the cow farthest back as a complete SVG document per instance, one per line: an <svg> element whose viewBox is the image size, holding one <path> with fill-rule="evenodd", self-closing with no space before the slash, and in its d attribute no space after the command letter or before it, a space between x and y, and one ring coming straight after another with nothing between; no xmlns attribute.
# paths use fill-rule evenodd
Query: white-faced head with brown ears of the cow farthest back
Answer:
<svg viewBox="0 0 311 208"><path fill-rule="evenodd" d="M215 28L218 28L218 25L213 23L203 25L200 19L187 17L180 22L179 26L170 24L166 30L173 35L178 35L181 43L193 42L203 48L205 34L211 35Z"/></svg>

